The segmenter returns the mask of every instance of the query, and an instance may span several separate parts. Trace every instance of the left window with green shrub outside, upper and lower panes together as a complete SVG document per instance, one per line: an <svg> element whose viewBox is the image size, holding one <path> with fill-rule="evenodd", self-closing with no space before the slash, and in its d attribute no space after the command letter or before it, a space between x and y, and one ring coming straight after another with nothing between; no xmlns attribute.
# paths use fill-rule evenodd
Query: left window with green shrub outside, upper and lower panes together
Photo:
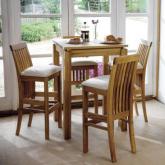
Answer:
<svg viewBox="0 0 165 165"><path fill-rule="evenodd" d="M52 53L52 38L61 35L60 0L20 0L21 38L31 55Z"/></svg>

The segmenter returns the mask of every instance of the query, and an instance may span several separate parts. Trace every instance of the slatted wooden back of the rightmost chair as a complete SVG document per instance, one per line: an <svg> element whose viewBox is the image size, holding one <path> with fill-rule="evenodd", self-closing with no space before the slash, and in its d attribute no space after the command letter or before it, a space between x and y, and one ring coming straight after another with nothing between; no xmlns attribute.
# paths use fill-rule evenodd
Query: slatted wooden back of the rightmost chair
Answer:
<svg viewBox="0 0 165 165"><path fill-rule="evenodd" d="M138 50L136 54L138 54L139 57L139 63L142 65L143 69L146 69L148 56L150 53L150 49L152 46L152 42L141 40L141 43L139 44Z"/></svg>

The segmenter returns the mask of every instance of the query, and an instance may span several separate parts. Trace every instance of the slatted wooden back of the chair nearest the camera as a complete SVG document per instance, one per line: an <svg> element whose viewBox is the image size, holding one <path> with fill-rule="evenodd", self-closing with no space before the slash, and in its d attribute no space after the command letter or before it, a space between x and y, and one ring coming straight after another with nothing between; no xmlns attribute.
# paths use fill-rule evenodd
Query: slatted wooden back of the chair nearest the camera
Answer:
<svg viewBox="0 0 165 165"><path fill-rule="evenodd" d="M133 90L139 55L114 59L108 89L108 114L114 119L125 118L132 113Z"/></svg>

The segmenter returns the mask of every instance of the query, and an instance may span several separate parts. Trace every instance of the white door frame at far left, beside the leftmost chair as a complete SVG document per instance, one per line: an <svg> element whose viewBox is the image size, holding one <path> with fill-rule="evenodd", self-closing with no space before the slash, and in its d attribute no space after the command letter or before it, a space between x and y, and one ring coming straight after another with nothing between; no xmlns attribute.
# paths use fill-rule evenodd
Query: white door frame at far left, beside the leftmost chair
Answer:
<svg viewBox="0 0 165 165"><path fill-rule="evenodd" d="M0 98L0 110L17 109L18 88L13 57L9 45L20 41L19 0L2 0L2 30L5 97ZM4 21L5 20L5 21Z"/></svg>

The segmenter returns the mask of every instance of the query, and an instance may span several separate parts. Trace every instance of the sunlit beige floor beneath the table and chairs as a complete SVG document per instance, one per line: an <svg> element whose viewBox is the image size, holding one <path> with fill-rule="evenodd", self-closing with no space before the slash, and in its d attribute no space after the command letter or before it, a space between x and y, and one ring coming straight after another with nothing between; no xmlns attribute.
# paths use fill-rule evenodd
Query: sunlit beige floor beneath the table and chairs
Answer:
<svg viewBox="0 0 165 165"><path fill-rule="evenodd" d="M134 117L137 153L130 152L128 133L115 126L117 160L115 165L165 164L165 105L147 102L149 123L140 116ZM0 165L109 165L106 132L89 129L89 153L82 153L81 109L72 111L72 139L63 139L53 117L50 119L50 141L44 138L44 115L36 114L32 127L27 127L24 116L21 134L15 136L16 116L0 118Z"/></svg>

